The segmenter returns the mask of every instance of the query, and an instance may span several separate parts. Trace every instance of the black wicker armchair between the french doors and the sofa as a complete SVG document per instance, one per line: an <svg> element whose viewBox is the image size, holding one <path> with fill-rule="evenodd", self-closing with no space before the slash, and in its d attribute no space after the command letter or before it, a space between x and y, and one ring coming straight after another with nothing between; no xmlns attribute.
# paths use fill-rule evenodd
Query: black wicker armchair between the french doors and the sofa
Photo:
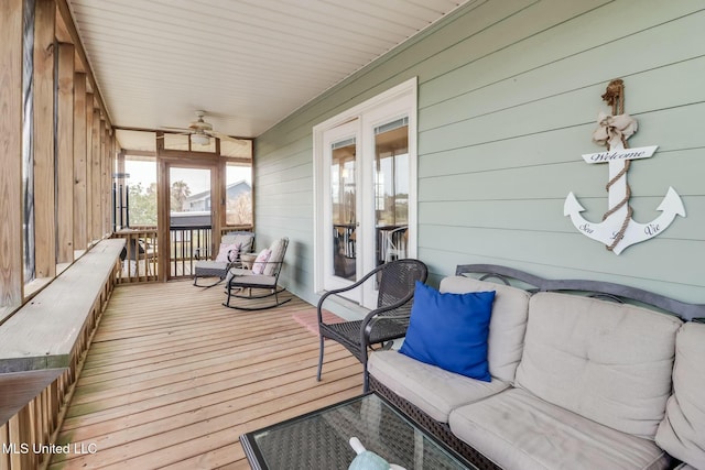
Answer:
<svg viewBox="0 0 705 470"><path fill-rule="evenodd" d="M406 335L415 283L416 281L425 282L427 275L426 265L419 260L395 260L377 266L355 284L326 292L321 297L317 307L321 352L316 380L321 381L323 343L325 338L329 338L343 345L362 363L365 392L367 392L369 386L368 349L371 349L373 345L380 345L382 348L390 347L392 340L403 338ZM323 321L323 304L328 297L351 291L368 281L379 283L376 309L361 320L338 324Z"/></svg>

